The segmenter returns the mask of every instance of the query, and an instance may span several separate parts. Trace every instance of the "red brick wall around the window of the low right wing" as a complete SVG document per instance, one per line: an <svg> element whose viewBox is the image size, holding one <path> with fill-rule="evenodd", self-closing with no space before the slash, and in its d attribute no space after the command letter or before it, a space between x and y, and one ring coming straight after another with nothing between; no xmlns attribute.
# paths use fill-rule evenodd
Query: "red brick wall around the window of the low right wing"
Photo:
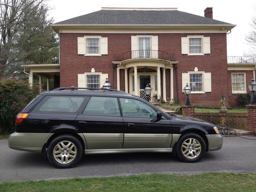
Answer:
<svg viewBox="0 0 256 192"><path fill-rule="evenodd" d="M251 79L253 77L253 71L228 71L227 76L228 76L228 84L227 84L227 89L228 89L228 102L231 106L236 106L237 105L237 98L239 94L232 94L232 73L246 73L246 90L247 93L250 94L250 90L248 89L248 84L251 83ZM227 100L227 99L226 99Z"/></svg>

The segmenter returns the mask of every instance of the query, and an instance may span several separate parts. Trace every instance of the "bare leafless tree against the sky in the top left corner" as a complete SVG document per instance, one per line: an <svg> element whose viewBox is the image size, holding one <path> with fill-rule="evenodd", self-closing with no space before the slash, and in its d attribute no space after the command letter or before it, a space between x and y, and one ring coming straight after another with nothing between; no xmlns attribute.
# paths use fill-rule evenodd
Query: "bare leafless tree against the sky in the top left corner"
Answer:
<svg viewBox="0 0 256 192"><path fill-rule="evenodd" d="M33 18L35 9L45 0L0 0L0 79L8 65L14 36L24 22Z"/></svg>

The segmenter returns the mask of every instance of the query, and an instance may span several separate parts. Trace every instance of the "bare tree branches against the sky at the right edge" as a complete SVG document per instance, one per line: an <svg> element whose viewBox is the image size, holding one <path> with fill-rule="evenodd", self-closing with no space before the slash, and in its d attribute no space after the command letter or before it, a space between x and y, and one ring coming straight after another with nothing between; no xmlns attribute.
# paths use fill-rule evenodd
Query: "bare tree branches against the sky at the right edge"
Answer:
<svg viewBox="0 0 256 192"><path fill-rule="evenodd" d="M255 9L256 12L256 9ZM248 35L245 36L246 41L251 46L250 49L247 51L246 55L256 57L256 16L252 18L251 24L253 30L249 32Z"/></svg>

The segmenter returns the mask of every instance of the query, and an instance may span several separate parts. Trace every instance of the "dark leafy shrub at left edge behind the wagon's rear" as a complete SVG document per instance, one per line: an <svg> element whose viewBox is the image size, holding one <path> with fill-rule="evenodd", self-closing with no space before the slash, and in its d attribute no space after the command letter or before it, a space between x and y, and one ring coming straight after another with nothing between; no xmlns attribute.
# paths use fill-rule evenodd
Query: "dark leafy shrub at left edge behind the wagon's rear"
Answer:
<svg viewBox="0 0 256 192"><path fill-rule="evenodd" d="M38 95L38 86L29 87L25 81L0 81L0 133L13 132L15 117L28 102Z"/></svg>

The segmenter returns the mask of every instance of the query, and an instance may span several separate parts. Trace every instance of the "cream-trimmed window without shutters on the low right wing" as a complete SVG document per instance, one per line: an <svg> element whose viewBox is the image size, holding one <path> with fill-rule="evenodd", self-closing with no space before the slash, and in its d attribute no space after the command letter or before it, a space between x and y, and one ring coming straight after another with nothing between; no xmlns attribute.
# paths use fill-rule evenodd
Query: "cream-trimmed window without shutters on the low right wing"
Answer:
<svg viewBox="0 0 256 192"><path fill-rule="evenodd" d="M246 93L245 73L232 73L232 93Z"/></svg>

